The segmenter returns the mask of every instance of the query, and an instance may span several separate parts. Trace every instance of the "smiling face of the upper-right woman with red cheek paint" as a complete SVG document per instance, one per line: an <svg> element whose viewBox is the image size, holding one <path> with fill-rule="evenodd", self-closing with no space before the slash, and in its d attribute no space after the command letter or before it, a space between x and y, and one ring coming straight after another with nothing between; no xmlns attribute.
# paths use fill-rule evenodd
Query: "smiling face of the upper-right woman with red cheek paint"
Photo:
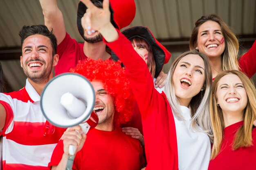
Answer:
<svg viewBox="0 0 256 170"><path fill-rule="evenodd" d="M217 22L207 21L199 27L197 47L208 57L221 57L225 50L225 40Z"/></svg>

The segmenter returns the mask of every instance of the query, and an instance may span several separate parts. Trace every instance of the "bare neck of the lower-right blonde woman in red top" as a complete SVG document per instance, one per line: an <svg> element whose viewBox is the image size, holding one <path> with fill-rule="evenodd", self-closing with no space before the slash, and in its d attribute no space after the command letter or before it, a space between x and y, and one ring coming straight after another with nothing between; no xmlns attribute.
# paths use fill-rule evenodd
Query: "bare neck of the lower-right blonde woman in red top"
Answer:
<svg viewBox="0 0 256 170"><path fill-rule="evenodd" d="M234 124L234 123L244 120L243 113L241 113L240 111L239 112L230 112L230 113L223 112L223 120L224 120L225 127L227 127L231 124Z"/></svg>

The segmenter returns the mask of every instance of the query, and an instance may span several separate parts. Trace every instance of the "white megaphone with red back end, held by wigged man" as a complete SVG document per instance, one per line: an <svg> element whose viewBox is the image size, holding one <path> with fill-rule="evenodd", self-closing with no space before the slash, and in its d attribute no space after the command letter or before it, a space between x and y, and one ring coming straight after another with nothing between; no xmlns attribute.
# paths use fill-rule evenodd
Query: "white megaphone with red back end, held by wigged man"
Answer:
<svg viewBox="0 0 256 170"><path fill-rule="evenodd" d="M95 105L92 84L80 74L64 73L52 78L43 89L40 105L43 115L54 126L67 128L79 124L87 133L99 121L92 112ZM70 145L70 155L75 150Z"/></svg>

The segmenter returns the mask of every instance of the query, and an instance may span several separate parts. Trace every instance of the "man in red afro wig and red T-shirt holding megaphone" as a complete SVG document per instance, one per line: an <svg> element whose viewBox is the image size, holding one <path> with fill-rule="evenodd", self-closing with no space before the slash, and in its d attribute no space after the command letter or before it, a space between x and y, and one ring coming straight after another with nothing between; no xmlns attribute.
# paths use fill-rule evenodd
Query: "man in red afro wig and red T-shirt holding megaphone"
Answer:
<svg viewBox="0 0 256 170"><path fill-rule="evenodd" d="M80 126L68 128L54 149L49 168L70 166L69 146L77 146L72 169L140 170L144 157L139 140L126 135L119 127L132 115L134 97L121 61L79 61L70 72L88 78L95 91L94 112L99 117L95 129L87 135ZM86 139L86 140L85 140Z"/></svg>

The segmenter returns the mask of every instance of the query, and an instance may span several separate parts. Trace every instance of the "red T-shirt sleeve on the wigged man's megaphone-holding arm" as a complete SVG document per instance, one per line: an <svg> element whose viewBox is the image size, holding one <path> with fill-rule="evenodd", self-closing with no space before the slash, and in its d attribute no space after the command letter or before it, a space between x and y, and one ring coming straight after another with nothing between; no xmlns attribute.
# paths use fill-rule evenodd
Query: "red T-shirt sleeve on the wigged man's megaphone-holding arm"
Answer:
<svg viewBox="0 0 256 170"><path fill-rule="evenodd" d="M59 140L58 144L53 150L51 161L48 164L49 170L52 169L52 166L57 166L58 163L60 163L63 153L63 140Z"/></svg>

